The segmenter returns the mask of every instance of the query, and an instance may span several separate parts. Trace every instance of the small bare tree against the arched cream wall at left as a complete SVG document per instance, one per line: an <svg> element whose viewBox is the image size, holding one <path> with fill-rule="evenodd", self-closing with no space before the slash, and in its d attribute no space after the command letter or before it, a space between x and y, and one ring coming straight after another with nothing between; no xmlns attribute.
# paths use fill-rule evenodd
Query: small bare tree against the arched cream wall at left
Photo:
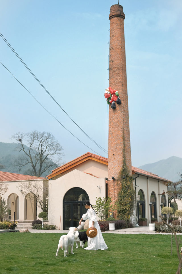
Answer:
<svg viewBox="0 0 182 274"><path fill-rule="evenodd" d="M42 208L43 212L48 212L48 181L31 180L22 182L17 188L24 196L29 194L29 200L34 201L36 198L37 206Z"/></svg>

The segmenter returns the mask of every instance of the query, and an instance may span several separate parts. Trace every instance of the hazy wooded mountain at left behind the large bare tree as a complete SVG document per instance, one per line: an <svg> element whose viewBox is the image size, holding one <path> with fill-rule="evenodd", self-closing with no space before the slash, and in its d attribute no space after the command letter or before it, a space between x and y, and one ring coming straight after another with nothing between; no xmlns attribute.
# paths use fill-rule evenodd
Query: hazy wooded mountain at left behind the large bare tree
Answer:
<svg viewBox="0 0 182 274"><path fill-rule="evenodd" d="M0 142L0 170L5 172L18 173L18 174L27 174L27 170L32 168L31 164L27 164L26 166L22 167L21 171L19 171L19 168L17 166L14 166L15 160L19 156L24 156L24 152L17 151L16 147L17 147L16 143ZM46 177L46 175L49 175L50 173L51 173L51 170L50 171L47 170L41 175L41 177Z"/></svg>

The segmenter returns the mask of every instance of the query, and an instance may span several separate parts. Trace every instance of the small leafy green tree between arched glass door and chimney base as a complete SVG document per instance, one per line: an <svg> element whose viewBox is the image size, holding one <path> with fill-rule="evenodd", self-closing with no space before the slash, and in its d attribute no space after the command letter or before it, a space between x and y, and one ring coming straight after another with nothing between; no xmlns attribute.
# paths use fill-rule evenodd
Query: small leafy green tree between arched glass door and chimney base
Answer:
<svg viewBox="0 0 182 274"><path fill-rule="evenodd" d="M94 205L95 211L98 213L98 217L101 218L101 220L105 220L109 215L109 210L113 211L115 209L115 206L112 205L112 201L110 197L96 197L96 205Z"/></svg>

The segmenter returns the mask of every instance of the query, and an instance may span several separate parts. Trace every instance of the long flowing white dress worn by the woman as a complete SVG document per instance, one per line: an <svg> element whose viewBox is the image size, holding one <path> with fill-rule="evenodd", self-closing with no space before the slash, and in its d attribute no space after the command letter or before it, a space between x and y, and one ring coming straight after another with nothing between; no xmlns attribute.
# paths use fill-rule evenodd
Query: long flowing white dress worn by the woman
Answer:
<svg viewBox="0 0 182 274"><path fill-rule="evenodd" d="M100 226L98 224L97 218L96 218L96 213L95 211L90 208L88 209L87 213L83 214L82 218L86 221L86 219L89 219L89 227L92 226L92 221L94 221L94 227L97 229L97 236L94 238L88 237L88 247L85 249L87 250L105 250L107 249L107 245L104 241L104 238L102 236Z"/></svg>

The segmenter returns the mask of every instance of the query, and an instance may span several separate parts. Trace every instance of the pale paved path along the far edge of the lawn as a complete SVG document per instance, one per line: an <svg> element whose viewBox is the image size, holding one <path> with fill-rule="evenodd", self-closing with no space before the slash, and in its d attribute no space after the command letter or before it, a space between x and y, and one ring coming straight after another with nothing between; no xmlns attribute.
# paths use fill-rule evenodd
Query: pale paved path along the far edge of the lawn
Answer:
<svg viewBox="0 0 182 274"><path fill-rule="evenodd" d="M15 229L15 231L19 231L19 229ZM42 229L28 229L31 233L68 233L69 230L42 230ZM7 230L0 230L0 233L8 232ZM162 234L162 235L171 235L171 233L158 233L155 231L150 231L149 226L137 226L132 228L125 229L116 229L116 230L106 230L105 233L117 233L117 234ZM182 235L182 233L177 233L177 235Z"/></svg>

